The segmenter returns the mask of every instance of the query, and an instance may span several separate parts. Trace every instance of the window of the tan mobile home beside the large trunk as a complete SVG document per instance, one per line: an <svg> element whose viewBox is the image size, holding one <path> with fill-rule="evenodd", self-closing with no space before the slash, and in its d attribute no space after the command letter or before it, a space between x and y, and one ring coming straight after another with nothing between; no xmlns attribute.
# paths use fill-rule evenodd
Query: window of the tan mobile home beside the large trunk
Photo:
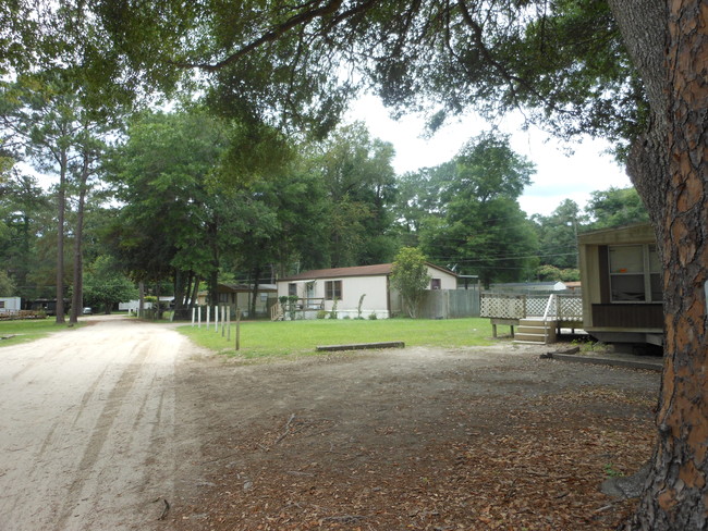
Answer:
<svg viewBox="0 0 708 531"><path fill-rule="evenodd" d="M656 245L610 246L612 302L661 302L661 264Z"/></svg>

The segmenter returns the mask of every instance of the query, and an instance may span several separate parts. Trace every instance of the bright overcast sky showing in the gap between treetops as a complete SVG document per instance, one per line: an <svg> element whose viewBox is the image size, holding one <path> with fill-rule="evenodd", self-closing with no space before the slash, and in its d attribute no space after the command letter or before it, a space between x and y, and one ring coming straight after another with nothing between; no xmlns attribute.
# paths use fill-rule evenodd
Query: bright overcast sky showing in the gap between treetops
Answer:
<svg viewBox="0 0 708 531"><path fill-rule="evenodd" d="M452 159L471 137L489 126L473 116L441 128L432 138L420 137L424 120L404 116L393 121L381 102L374 96L357 100L347 114L347 122L359 120L366 123L373 137L390 141L395 147L393 166L402 174L419 168L435 166ZM573 144L573 155L563 151L563 145L538 129L520 131L518 123L508 122L499 128L511 134L512 148L536 164L533 185L520 198L527 214L550 214L564 199L573 199L581 208L595 190L610 186L631 186L624 169L611 155L603 153L607 144L586 139Z"/></svg>

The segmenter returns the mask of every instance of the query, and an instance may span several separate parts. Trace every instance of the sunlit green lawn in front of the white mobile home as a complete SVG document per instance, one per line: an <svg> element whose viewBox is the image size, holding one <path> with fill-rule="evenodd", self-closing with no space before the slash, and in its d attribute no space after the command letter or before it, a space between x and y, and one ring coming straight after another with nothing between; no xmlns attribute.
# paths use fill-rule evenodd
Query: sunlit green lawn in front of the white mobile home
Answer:
<svg viewBox="0 0 708 531"><path fill-rule="evenodd" d="M241 323L241 350L235 351L235 323L231 323L231 341L213 323L178 329L200 346L244 358L310 354L319 345L378 343L402 341L406 346L462 347L491 345L488 319L379 319L312 320L312 321L245 321Z"/></svg>

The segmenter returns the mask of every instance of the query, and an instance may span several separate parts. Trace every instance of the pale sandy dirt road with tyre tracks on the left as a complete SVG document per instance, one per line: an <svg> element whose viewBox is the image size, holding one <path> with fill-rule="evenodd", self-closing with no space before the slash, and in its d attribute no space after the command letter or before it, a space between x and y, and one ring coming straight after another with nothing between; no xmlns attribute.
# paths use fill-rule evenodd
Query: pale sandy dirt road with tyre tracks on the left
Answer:
<svg viewBox="0 0 708 531"><path fill-rule="evenodd" d="M163 325L102 318L0 348L0 530L157 521L198 447L174 428L186 344Z"/></svg>

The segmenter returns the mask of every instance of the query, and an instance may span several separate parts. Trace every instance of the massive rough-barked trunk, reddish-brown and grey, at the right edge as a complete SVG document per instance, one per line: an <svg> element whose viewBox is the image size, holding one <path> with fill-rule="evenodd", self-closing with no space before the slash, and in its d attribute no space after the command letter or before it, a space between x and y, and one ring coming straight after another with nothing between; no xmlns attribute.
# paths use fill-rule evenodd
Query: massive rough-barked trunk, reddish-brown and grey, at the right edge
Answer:
<svg viewBox="0 0 708 531"><path fill-rule="evenodd" d="M708 527L708 8L610 0L651 106L628 172L664 273L664 370L651 470L626 530ZM661 58L659 61L658 58Z"/></svg>

